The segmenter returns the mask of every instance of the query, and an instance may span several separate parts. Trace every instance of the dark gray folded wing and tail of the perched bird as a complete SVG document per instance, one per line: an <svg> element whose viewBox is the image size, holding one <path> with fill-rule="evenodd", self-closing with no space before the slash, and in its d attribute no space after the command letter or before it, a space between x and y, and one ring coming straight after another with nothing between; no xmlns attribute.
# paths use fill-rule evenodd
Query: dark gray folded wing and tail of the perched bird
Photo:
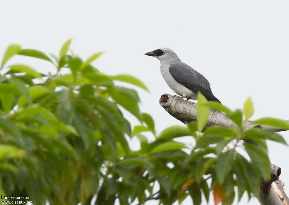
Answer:
<svg viewBox="0 0 289 205"><path fill-rule="evenodd" d="M189 90L202 93L208 100L220 102L212 93L209 81L198 71L183 62L172 64L169 72L173 78Z"/></svg>

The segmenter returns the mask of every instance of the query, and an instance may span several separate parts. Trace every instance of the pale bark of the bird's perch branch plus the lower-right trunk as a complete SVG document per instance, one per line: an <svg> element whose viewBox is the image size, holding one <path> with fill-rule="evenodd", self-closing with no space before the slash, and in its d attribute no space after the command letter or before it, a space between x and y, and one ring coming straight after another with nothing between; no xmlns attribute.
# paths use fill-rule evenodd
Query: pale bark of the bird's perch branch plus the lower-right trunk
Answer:
<svg viewBox="0 0 289 205"><path fill-rule="evenodd" d="M190 122L197 119L197 104L186 101L179 96L164 94L159 100L160 105L174 118L181 122ZM289 122L289 120L287 120ZM263 130L273 130L275 132L285 131L285 129L268 126L251 124L252 121L246 122L246 129L258 127ZM207 126L221 125L225 127L237 127L224 113L216 110L210 110ZM284 192L283 184L279 180L281 168L271 165L271 180L261 182L261 192L257 198L261 205L289 205L289 199Z"/></svg>

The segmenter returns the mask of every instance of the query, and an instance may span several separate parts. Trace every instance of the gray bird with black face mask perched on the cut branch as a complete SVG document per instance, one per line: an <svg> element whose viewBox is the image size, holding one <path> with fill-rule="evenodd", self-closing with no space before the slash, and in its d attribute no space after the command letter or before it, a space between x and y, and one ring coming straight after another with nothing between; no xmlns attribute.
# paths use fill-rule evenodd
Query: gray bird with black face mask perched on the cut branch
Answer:
<svg viewBox="0 0 289 205"><path fill-rule="evenodd" d="M160 71L168 86L181 97L196 100L198 91L208 100L221 103L212 93L209 81L198 71L181 62L169 48L160 48L145 53L160 60Z"/></svg>

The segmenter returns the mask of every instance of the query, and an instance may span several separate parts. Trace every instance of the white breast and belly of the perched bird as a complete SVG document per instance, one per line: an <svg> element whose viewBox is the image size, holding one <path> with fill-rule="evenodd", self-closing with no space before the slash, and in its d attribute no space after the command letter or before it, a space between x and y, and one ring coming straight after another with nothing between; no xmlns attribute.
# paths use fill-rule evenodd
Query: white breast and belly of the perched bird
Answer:
<svg viewBox="0 0 289 205"><path fill-rule="evenodd" d="M166 84L177 94L180 95L181 97L190 97L191 99L195 100L197 99L197 94L190 91L188 88L183 86L182 84L178 83L171 73L169 72L169 65L161 65L160 70L162 73L162 76L164 80L166 81Z"/></svg>

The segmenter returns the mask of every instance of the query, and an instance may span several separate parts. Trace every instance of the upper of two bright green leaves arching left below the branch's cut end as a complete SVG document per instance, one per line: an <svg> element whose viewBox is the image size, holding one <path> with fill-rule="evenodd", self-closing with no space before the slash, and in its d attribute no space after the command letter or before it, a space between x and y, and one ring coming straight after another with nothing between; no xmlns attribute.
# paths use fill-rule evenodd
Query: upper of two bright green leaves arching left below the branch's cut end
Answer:
<svg viewBox="0 0 289 205"><path fill-rule="evenodd" d="M158 136L158 139L172 139L175 137L188 135L190 135L190 130L188 129L188 127L175 125L164 129Z"/></svg>

